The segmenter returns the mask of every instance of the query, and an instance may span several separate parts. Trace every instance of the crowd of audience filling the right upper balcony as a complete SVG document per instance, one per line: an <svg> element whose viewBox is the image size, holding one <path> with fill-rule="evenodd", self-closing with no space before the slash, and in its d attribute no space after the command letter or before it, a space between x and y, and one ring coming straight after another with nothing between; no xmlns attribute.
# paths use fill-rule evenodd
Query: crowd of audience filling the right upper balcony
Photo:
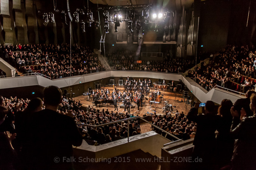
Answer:
<svg viewBox="0 0 256 170"><path fill-rule="evenodd" d="M247 91L255 85L254 81L243 76L256 79L256 49L254 46L226 46L220 50L214 58L211 58L208 65L205 62L197 67L196 72L189 70L188 77L206 90L212 89L215 85L232 89L232 82L244 85L243 91Z"/></svg>

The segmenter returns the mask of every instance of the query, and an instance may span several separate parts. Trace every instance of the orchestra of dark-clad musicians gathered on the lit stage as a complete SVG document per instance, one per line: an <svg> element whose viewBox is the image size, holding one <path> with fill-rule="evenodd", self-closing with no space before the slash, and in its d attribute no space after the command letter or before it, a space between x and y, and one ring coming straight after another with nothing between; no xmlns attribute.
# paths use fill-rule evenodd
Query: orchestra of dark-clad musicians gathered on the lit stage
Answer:
<svg viewBox="0 0 256 170"><path fill-rule="evenodd" d="M161 82L162 85L166 85L167 82L165 79ZM160 86L162 86L160 84ZM130 113L130 105L132 102L136 103L138 106L138 110L140 110L140 107L143 107L143 99L145 99L145 95L148 97L147 100L149 101L161 101L161 92L159 90L159 85L156 85L154 83L153 91L150 91L150 88L153 87L152 81L149 80L141 80L138 81L132 78L127 77L127 80L123 84L124 91L123 93L119 91L116 86L113 86L112 93L110 93L109 89L101 88L101 90L96 89L92 90L92 97L95 106L97 104L107 103L107 104L113 104L115 107L115 110L117 109L117 103L122 101L124 104L124 111L127 111ZM157 88L156 88L157 86ZM172 81L170 88L174 86L174 81ZM150 103L151 104L151 103Z"/></svg>

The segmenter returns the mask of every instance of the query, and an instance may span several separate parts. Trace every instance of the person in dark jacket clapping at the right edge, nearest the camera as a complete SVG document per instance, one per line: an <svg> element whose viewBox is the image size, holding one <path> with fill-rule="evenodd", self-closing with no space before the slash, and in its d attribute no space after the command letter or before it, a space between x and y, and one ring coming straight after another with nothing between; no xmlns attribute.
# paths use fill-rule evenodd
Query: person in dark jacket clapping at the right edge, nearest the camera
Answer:
<svg viewBox="0 0 256 170"><path fill-rule="evenodd" d="M252 116L247 116L244 108L241 115L237 110L231 109L233 122L230 133L236 139L232 156L232 170L256 169L256 94L250 97Z"/></svg>

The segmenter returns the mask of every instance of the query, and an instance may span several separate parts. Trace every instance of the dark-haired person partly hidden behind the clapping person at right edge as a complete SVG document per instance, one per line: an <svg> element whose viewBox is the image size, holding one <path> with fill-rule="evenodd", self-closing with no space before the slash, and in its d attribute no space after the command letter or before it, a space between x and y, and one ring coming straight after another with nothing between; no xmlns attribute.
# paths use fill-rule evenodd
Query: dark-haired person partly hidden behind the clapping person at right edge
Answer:
<svg viewBox="0 0 256 170"><path fill-rule="evenodd" d="M239 98L236 100L235 104L233 105L234 111L237 110L239 116L241 115L241 109L244 108L246 111L246 116L252 116L253 112L250 109L250 97L252 94L255 94L256 92L254 90L248 90L246 92L246 98Z"/></svg>

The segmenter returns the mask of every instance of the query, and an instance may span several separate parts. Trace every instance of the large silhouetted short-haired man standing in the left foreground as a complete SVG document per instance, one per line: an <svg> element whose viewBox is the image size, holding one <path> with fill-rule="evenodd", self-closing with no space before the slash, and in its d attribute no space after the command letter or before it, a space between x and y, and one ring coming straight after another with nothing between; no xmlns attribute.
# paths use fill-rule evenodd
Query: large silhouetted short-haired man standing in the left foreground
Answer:
<svg viewBox="0 0 256 170"><path fill-rule="evenodd" d="M80 146L80 134L73 118L57 112L62 92L56 86L48 86L43 92L45 109L33 114L30 138L32 169L72 169L74 146ZM56 163L56 157L59 161Z"/></svg>

